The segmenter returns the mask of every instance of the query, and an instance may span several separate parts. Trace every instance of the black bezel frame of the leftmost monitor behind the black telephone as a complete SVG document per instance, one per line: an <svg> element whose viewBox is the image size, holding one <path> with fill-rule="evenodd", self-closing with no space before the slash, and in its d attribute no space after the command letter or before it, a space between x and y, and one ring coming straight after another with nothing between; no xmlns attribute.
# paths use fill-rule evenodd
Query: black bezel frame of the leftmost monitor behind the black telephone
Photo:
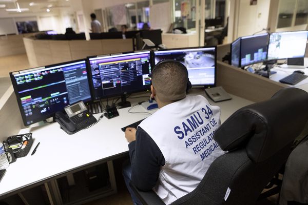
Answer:
<svg viewBox="0 0 308 205"><path fill-rule="evenodd" d="M42 116L42 117L39 117L37 118L36 120L33 120L33 122L31 124L27 124L27 120L26 120L26 115L25 113L23 112L23 107L22 107L22 101L21 101L21 98L20 98L20 95L18 94L18 91L17 91L17 83L16 83L16 80L14 78L14 75L15 74L21 74L22 73L25 73L27 71L31 72L31 71L35 71L35 70L40 70L40 69L48 69L48 68L52 68L52 67L56 67L56 66L61 66L61 65L66 65L66 64L71 64L71 63L77 63L77 62L81 62L81 61L85 61L85 63L87 63L86 59L79 59L79 60L72 60L72 61L67 61L67 62L64 62L64 63L59 63L59 64L52 64L52 65L47 65L47 66L41 66L41 67L35 67L35 68L29 68L29 69L24 69L24 70L20 70L20 71L13 71L13 72L10 72L10 78L11 78L11 82L12 82L12 85L13 85L13 88L14 88L14 93L15 93L15 97L17 99L17 104L18 104L18 108L20 109L20 113L22 115L22 119L23 119L23 123L26 127L30 126L30 125L33 125L35 124L36 122L40 122L42 120L45 120L45 119L48 119L50 117L54 117L54 114L55 113L52 113L52 114L49 114L49 115L45 115L45 116ZM86 71L87 71L87 64L86 64ZM87 77L88 77L88 81L89 81L89 74L88 74L88 71L87 71ZM90 98L86 99L86 100L83 100L85 103L87 103L88 101L91 101L92 100L92 94L91 94L91 90L90 90ZM64 110L64 108L63 108Z"/></svg>

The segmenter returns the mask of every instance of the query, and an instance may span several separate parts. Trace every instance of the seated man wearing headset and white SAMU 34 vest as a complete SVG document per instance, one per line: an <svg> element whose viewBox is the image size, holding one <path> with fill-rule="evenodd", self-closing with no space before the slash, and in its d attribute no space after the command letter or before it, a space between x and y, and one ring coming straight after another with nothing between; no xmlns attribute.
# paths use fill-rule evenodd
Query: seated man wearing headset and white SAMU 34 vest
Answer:
<svg viewBox="0 0 308 205"><path fill-rule="evenodd" d="M126 129L131 166L123 166L123 175L134 204L141 203L128 185L130 179L170 204L194 190L211 162L224 154L213 139L220 108L201 95L186 96L188 72L177 61L162 61L151 77L151 96L159 110L137 130Z"/></svg>

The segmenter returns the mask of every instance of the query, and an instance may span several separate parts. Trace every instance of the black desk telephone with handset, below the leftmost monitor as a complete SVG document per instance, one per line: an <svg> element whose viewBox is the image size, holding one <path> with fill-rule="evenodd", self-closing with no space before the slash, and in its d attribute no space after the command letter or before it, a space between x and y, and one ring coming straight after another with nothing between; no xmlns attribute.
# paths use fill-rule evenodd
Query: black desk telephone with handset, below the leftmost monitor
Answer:
<svg viewBox="0 0 308 205"><path fill-rule="evenodd" d="M55 121L67 134L74 134L86 127L97 123L97 119L88 112L83 101L65 107L63 112L55 113Z"/></svg>

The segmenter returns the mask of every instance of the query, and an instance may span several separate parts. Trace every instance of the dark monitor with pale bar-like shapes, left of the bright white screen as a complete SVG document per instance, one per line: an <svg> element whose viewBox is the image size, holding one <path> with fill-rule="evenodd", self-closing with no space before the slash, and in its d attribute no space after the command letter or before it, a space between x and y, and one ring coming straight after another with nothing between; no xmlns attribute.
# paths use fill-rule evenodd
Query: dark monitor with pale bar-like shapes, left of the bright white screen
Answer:
<svg viewBox="0 0 308 205"><path fill-rule="evenodd" d="M268 33L241 37L240 67L266 60Z"/></svg>

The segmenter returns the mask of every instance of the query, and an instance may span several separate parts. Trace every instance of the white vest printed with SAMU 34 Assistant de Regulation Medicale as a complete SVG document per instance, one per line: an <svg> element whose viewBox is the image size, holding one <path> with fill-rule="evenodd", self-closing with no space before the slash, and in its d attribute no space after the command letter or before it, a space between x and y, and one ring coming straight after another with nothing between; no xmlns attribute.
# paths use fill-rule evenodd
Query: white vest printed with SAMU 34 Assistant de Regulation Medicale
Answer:
<svg viewBox="0 0 308 205"><path fill-rule="evenodd" d="M139 126L165 157L154 191L166 204L194 190L211 162L224 154L213 139L220 108L201 95L164 106Z"/></svg>

